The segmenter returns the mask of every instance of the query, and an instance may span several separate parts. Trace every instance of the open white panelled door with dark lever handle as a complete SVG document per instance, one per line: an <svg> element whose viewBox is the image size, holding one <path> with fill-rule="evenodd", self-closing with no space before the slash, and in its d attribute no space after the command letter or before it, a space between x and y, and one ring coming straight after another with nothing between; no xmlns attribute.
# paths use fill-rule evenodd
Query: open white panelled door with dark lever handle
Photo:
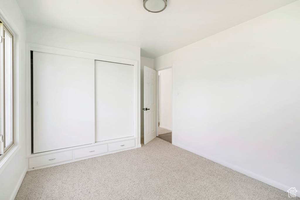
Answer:
<svg viewBox="0 0 300 200"><path fill-rule="evenodd" d="M144 144L156 137L156 71L144 66Z"/></svg>

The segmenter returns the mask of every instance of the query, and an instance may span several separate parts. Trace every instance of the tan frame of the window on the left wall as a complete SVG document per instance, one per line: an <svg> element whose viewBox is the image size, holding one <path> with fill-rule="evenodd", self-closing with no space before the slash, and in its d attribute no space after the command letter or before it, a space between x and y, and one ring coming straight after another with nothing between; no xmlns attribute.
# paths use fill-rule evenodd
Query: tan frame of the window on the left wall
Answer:
<svg viewBox="0 0 300 200"><path fill-rule="evenodd" d="M0 69L1 69L1 108L0 110L2 110L1 112L1 123L0 123L0 129L1 129L1 132L0 132L0 135L3 135L2 136L2 139L3 139L3 154L0 155L0 161L1 159L4 158L4 156L13 148L14 144L15 144L15 88L14 88L14 76L15 76L15 73L14 73L14 62L15 62L15 57L14 57L14 36L12 34L12 31L10 31L9 28L7 28L7 26L5 26L5 24L3 22L1 22L1 36L2 36L2 42L0 43L1 45L1 48L0 48L0 51L1 51L1 56L2 56L2 59L3 59L3 62L0 63ZM6 58L5 58L5 32L11 37L11 53L12 53L12 57L11 57L11 75L10 75L10 78L11 78L11 97L12 97L12 101L11 101L11 107L12 107L12 110L11 110L11 119L12 119L12 123L11 123L11 130L12 130L12 142L7 146L6 146L6 138L5 138L5 135L6 135L6 129L5 129L5 124L6 124L6 117L5 117L5 112L6 112L6 103L5 103L5 86L6 86L6 79L5 79L5 70L6 70L6 66L5 66L5 62L6 62Z"/></svg>

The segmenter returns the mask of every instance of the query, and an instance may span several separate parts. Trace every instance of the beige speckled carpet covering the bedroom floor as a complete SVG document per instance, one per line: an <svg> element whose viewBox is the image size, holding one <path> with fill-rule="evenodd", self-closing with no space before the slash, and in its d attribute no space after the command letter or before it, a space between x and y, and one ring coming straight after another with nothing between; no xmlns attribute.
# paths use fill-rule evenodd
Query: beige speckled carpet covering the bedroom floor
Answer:
<svg viewBox="0 0 300 200"><path fill-rule="evenodd" d="M287 192L155 138L142 148L29 171L16 199L291 198Z"/></svg>

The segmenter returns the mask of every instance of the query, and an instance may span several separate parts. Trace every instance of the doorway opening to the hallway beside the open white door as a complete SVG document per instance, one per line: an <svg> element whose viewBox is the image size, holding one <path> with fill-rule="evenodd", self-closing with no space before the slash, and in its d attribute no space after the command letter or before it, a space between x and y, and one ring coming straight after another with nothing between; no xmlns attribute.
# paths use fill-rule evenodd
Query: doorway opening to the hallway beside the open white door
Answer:
<svg viewBox="0 0 300 200"><path fill-rule="evenodd" d="M172 68L158 71L157 137L172 143Z"/></svg>

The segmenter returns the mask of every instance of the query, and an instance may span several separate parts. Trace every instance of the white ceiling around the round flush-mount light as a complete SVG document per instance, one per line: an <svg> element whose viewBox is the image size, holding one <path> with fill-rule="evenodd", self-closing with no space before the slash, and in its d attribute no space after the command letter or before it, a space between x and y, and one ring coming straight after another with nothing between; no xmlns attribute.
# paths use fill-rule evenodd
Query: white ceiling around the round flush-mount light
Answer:
<svg viewBox="0 0 300 200"><path fill-rule="evenodd" d="M27 21L141 47L156 58L295 0L167 0L149 13L143 0L16 0Z"/></svg>

